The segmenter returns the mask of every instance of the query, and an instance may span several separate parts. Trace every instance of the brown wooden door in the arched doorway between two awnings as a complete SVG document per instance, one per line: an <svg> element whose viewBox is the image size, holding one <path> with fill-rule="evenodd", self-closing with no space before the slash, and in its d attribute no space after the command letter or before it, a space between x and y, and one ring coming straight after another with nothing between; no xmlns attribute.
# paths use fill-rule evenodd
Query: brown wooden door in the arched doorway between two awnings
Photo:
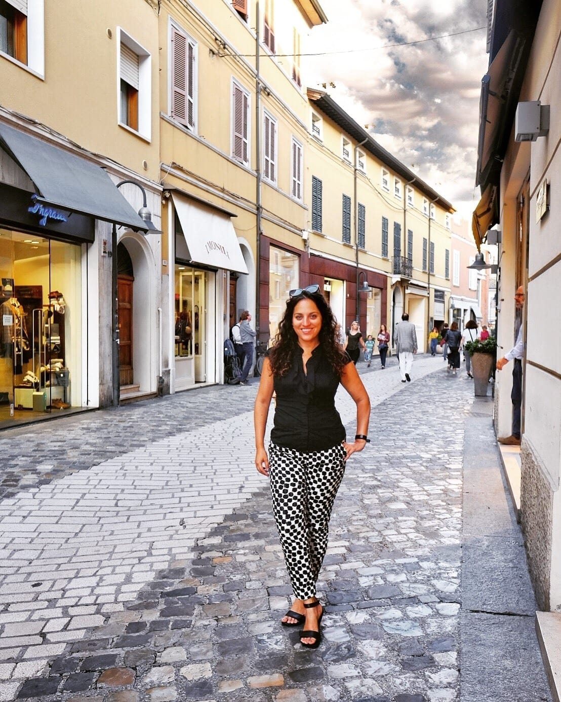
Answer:
<svg viewBox="0 0 561 702"><path fill-rule="evenodd" d="M117 246L117 317L119 322L119 386L133 385L133 261L124 244Z"/></svg>

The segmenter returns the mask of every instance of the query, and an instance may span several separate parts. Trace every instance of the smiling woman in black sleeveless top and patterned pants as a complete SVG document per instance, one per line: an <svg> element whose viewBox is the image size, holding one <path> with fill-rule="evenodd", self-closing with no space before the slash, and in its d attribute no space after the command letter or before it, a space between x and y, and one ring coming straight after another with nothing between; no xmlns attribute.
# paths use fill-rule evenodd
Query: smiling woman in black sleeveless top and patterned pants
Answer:
<svg viewBox="0 0 561 702"><path fill-rule="evenodd" d="M331 509L345 461L366 446L370 400L355 366L337 343L335 319L318 285L290 291L275 343L264 359L255 399L255 465L271 481L271 499L295 600L284 626L304 625L300 642L317 648L323 607L316 582ZM346 442L335 409L339 383L356 403L356 437ZM276 392L269 456L267 414Z"/></svg>

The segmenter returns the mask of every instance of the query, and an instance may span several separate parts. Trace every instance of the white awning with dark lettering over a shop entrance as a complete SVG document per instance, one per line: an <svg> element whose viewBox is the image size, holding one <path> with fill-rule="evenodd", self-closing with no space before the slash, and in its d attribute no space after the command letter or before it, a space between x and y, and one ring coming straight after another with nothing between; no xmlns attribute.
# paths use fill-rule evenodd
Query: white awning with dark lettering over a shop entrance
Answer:
<svg viewBox="0 0 561 702"><path fill-rule="evenodd" d="M248 274L229 216L198 200L191 201L177 193L172 197L189 249L189 260Z"/></svg>

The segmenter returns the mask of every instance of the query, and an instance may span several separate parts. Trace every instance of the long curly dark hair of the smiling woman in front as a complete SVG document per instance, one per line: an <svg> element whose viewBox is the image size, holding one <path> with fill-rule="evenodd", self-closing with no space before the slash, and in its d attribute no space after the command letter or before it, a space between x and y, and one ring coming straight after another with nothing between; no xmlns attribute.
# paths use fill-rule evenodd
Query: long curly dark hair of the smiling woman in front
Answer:
<svg viewBox="0 0 561 702"><path fill-rule="evenodd" d="M285 376L292 366L292 359L298 351L298 337L292 328L292 315L294 308L304 298L316 303L321 314L321 328L319 333L320 345L323 347L327 360L337 376L341 376L344 366L349 362L349 357L342 350L337 340L337 319L335 319L331 307L322 293L309 293L302 291L302 294L290 298L286 303L286 310L283 319L278 325L278 333L275 336L275 343L269 350L269 362L273 376Z"/></svg>

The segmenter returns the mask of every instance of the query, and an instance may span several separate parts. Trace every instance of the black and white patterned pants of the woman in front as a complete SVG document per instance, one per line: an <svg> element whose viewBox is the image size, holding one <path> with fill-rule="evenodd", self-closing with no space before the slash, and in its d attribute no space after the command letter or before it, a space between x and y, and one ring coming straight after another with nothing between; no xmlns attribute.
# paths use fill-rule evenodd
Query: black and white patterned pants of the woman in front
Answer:
<svg viewBox="0 0 561 702"><path fill-rule="evenodd" d="M292 590L300 600L316 595L345 455L342 444L312 453L269 445L273 516Z"/></svg>

